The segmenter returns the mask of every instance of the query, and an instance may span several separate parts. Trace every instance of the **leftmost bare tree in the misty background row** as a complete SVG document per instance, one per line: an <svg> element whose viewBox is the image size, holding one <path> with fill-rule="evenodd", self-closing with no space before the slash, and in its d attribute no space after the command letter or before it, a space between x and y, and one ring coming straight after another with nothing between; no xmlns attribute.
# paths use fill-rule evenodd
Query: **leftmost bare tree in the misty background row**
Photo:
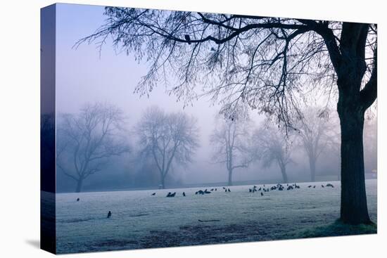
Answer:
<svg viewBox="0 0 387 258"><path fill-rule="evenodd" d="M84 105L78 114L62 114L58 123L58 169L73 179L75 192L82 191L84 179L101 171L110 157L129 151L118 136L123 130L122 111L113 105Z"/></svg>

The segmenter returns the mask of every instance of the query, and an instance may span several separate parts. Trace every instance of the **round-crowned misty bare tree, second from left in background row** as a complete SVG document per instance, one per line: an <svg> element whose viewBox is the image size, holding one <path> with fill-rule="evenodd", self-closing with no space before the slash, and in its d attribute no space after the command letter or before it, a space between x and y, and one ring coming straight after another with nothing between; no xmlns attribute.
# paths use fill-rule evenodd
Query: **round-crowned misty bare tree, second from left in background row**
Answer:
<svg viewBox="0 0 387 258"><path fill-rule="evenodd" d="M165 188L165 176L174 162L186 165L198 148L196 119L182 112L166 114L160 108L148 108L136 127L141 155L152 157Z"/></svg>

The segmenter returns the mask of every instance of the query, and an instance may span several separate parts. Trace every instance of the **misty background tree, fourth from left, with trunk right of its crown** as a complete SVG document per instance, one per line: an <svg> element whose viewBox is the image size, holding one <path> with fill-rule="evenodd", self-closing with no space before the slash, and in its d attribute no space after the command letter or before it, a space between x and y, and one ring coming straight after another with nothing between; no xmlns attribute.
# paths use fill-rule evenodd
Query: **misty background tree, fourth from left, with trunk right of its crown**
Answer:
<svg viewBox="0 0 387 258"><path fill-rule="evenodd" d="M270 167L273 162L276 162L281 171L283 183L288 183L286 166L292 162L291 137L283 134L278 127L272 124L262 126L253 134L256 157L262 161L263 167Z"/></svg>

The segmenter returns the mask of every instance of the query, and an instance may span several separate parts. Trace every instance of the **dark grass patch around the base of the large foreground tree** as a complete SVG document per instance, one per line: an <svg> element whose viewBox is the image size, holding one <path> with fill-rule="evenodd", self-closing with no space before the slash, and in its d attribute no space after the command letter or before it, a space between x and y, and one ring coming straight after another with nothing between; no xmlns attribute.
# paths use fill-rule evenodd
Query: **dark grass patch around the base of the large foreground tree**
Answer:
<svg viewBox="0 0 387 258"><path fill-rule="evenodd" d="M333 224L326 226L317 226L315 228L306 228L300 231L296 231L291 238L321 238L326 236L351 236L351 235L364 235L364 234L376 234L377 225L372 224L360 224L360 225L348 225L343 224L341 221L335 221Z"/></svg>

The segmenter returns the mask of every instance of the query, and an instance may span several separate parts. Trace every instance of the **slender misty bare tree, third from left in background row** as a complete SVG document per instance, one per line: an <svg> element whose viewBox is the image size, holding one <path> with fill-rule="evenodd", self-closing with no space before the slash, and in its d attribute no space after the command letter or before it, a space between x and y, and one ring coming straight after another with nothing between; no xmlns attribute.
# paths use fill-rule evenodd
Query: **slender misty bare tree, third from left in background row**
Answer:
<svg viewBox="0 0 387 258"><path fill-rule="evenodd" d="M232 186L234 169L247 168L253 161L248 146L250 124L248 120L217 119L219 126L210 136L210 142L215 148L212 160L225 164L229 175L228 185Z"/></svg>

